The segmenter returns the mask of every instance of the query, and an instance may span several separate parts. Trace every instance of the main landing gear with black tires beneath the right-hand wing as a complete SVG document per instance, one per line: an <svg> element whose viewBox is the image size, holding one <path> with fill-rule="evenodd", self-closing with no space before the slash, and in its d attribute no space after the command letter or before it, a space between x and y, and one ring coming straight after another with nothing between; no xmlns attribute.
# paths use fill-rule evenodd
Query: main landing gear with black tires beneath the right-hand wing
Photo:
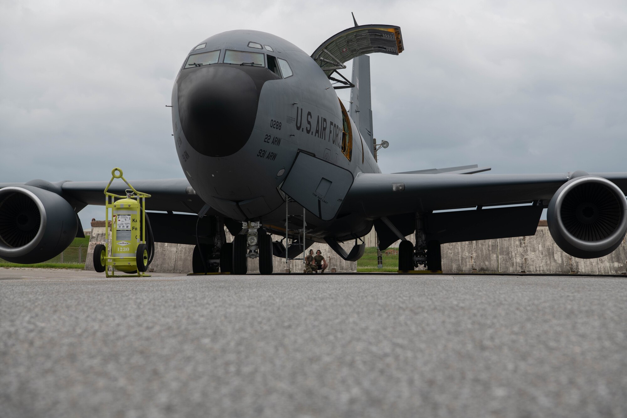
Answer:
<svg viewBox="0 0 627 418"><path fill-rule="evenodd" d="M416 213L416 245L412 245L409 240L403 240L398 249L399 271L412 271L418 265L423 265L425 271L442 271L440 242L427 239L422 213Z"/></svg>

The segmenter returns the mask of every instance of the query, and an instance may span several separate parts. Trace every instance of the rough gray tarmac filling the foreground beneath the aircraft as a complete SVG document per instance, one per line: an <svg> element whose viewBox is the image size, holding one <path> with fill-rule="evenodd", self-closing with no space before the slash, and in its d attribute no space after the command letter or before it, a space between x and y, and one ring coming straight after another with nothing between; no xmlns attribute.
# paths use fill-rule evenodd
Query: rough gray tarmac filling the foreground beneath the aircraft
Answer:
<svg viewBox="0 0 627 418"><path fill-rule="evenodd" d="M624 417L627 279L0 269L8 417Z"/></svg>

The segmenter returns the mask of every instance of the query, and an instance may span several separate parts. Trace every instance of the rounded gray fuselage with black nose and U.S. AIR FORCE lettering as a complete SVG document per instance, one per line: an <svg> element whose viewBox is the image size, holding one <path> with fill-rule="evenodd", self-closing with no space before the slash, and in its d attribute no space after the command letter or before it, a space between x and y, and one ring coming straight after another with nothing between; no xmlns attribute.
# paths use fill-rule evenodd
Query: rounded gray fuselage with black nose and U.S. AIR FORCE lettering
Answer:
<svg viewBox="0 0 627 418"><path fill-rule="evenodd" d="M277 233L285 228L278 187L299 151L353 176L381 172L319 65L269 33L228 31L196 46L172 89L172 126L196 193L225 217L261 220ZM289 205L290 215L302 213ZM339 222L307 213L307 223L320 239L372 227L349 214Z"/></svg>

